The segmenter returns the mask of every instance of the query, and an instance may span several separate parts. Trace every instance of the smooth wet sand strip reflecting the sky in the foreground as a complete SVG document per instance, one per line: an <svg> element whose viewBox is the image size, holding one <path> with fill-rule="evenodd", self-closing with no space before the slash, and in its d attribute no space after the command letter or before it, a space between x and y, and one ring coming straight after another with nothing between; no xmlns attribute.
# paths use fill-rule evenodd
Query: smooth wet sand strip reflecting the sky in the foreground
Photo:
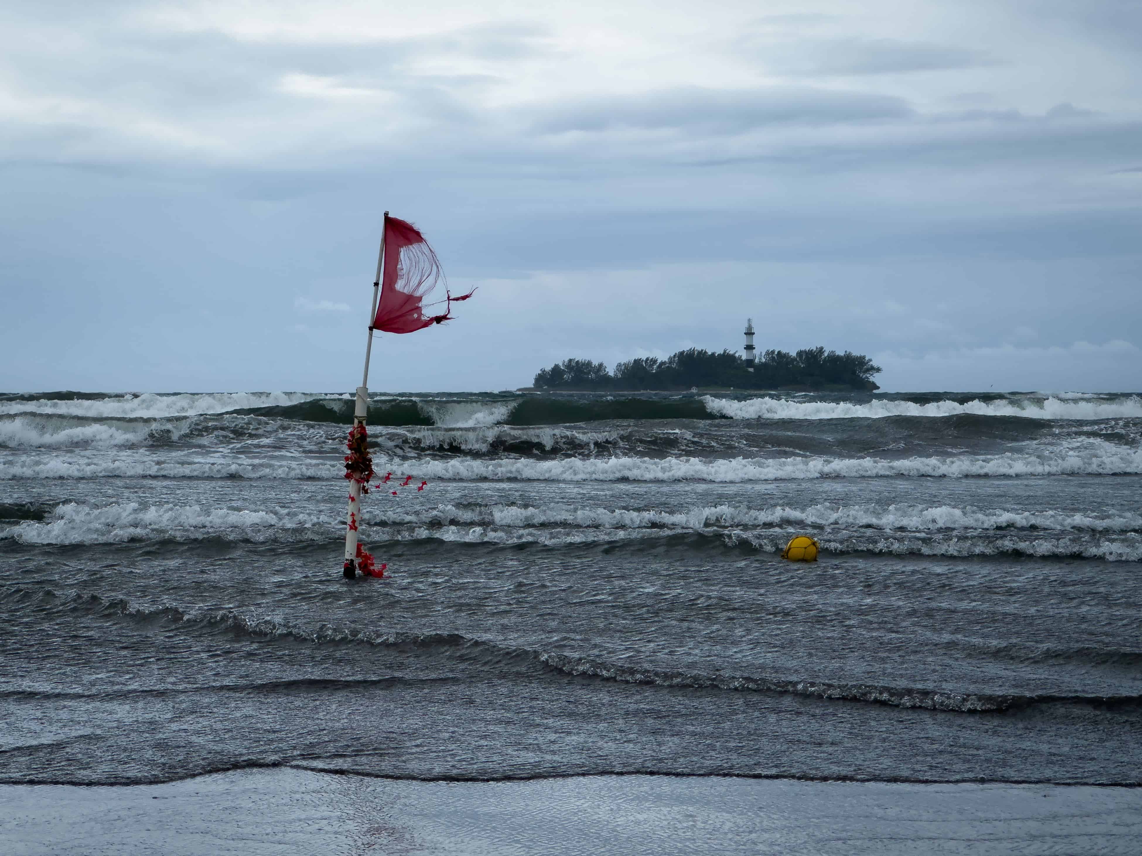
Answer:
<svg viewBox="0 0 1142 856"><path fill-rule="evenodd" d="M415 782L296 768L0 786L32 854L1137 854L1142 789L674 776Z"/></svg>

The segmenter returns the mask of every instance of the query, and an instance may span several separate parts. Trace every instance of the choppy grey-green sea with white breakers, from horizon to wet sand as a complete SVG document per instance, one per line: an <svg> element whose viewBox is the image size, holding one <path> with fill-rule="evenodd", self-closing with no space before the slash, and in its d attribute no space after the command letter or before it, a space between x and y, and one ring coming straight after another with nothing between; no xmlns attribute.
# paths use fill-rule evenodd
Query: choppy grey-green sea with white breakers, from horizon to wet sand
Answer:
<svg viewBox="0 0 1142 856"><path fill-rule="evenodd" d="M1142 783L1139 396L351 407L0 396L0 781Z"/></svg>

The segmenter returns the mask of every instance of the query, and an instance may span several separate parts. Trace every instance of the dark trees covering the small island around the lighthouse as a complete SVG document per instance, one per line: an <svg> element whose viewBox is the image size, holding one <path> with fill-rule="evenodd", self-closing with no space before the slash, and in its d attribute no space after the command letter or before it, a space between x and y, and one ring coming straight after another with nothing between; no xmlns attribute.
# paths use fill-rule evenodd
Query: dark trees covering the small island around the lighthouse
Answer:
<svg viewBox="0 0 1142 856"><path fill-rule="evenodd" d="M823 347L803 348L795 354L766 350L754 365L726 349L721 354L689 348L665 360L637 357L618 363L614 372L604 363L564 360L536 374L537 389L578 390L675 390L692 387L733 387L735 389L864 389L879 387L872 377L879 365L863 354L838 354Z"/></svg>

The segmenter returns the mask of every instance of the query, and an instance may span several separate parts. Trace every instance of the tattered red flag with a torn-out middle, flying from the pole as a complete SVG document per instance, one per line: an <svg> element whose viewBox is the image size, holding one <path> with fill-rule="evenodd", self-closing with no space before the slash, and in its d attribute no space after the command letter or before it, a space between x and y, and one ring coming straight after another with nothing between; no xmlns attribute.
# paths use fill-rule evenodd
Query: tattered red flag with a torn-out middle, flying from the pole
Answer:
<svg viewBox="0 0 1142 856"><path fill-rule="evenodd" d="M472 291L452 297L448 293L445 283L443 300L425 302L443 282L444 272L441 270L440 259L419 229L411 223L386 215L385 266L380 277L377 316L372 321L373 329L386 333L411 333L448 321L452 302L467 300L472 297ZM442 314L425 314L427 307L440 304L445 304Z"/></svg>

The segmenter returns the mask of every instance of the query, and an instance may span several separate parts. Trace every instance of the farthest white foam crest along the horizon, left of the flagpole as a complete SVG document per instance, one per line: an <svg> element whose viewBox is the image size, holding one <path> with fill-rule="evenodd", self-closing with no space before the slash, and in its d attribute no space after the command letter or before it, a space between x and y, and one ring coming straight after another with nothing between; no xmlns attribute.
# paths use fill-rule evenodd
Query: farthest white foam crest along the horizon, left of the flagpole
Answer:
<svg viewBox="0 0 1142 856"><path fill-rule="evenodd" d="M0 402L0 413L57 413L73 417L190 417L225 413L240 407L268 407L324 398L316 393L182 393L177 395L123 395L91 401Z"/></svg>

